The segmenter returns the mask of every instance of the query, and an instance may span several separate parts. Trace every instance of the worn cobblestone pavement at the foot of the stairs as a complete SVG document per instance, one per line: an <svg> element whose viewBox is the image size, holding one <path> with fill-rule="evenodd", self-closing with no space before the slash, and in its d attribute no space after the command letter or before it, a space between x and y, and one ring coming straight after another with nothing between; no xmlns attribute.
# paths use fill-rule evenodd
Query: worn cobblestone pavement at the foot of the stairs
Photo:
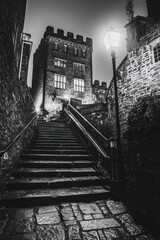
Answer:
<svg viewBox="0 0 160 240"><path fill-rule="evenodd" d="M121 202L63 203L6 209L1 240L153 240ZM155 240L155 239L154 239Z"/></svg>

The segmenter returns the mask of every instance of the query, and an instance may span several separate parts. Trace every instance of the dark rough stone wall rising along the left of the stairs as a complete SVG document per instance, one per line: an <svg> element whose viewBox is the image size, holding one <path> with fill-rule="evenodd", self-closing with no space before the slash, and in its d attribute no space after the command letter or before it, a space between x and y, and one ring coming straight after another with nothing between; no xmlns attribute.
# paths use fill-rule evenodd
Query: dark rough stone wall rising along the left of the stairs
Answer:
<svg viewBox="0 0 160 240"><path fill-rule="evenodd" d="M22 130L33 108L29 89L26 88L26 104L18 78L25 8L25 0L2 0L0 4L0 150ZM22 142L17 142L0 156L0 176L9 173L21 150Z"/></svg>

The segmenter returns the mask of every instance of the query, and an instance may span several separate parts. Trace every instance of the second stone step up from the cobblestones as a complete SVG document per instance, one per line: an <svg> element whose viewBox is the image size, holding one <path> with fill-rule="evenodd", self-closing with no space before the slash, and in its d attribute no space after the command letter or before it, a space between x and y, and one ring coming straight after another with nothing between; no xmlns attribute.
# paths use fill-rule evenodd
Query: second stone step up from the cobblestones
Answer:
<svg viewBox="0 0 160 240"><path fill-rule="evenodd" d="M16 178L6 183L5 190L57 189L68 187L107 185L107 180L98 176L59 178Z"/></svg>

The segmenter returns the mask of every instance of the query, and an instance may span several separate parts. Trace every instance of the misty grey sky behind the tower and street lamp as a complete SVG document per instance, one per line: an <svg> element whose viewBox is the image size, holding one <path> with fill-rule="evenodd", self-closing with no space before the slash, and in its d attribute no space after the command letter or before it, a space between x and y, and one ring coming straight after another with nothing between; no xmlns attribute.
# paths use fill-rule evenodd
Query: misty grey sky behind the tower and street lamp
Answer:
<svg viewBox="0 0 160 240"><path fill-rule="evenodd" d="M145 0L133 0L134 13L147 16ZM103 36L110 27L122 32L117 51L117 66L126 55L125 14L126 0L28 0L24 32L32 35L33 48L30 58L29 80L31 86L33 53L38 47L48 25L93 39L93 81L112 78L111 56L107 53Z"/></svg>

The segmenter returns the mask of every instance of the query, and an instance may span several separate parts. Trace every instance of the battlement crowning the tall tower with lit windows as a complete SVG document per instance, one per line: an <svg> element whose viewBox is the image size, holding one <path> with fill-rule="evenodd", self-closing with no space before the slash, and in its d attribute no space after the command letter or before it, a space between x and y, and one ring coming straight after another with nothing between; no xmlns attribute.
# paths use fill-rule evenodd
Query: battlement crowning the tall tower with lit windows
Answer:
<svg viewBox="0 0 160 240"><path fill-rule="evenodd" d="M86 38L86 41L84 41L83 36L81 35L77 35L76 38L74 38L74 34L71 32L67 32L67 36L64 35L64 30L62 29L57 29L57 32L54 32L54 27L48 26L46 28L46 31L44 33L44 37L47 36L53 36L53 37L57 37L57 38L61 38L63 40L67 40L67 41L71 41L74 43L80 43L80 44L84 44L84 45L88 45L90 47L92 47L92 39L91 38Z"/></svg>

